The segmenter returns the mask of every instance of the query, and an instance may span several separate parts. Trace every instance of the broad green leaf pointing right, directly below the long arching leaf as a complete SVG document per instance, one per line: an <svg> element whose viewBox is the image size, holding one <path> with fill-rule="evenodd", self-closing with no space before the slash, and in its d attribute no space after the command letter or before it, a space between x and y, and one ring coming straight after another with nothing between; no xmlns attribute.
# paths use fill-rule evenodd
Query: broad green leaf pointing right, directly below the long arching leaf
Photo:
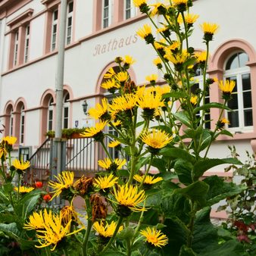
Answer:
<svg viewBox="0 0 256 256"><path fill-rule="evenodd" d="M239 195L246 189L246 186L238 186L235 183L224 182L224 180L217 175L205 178L204 183L209 185L207 194L208 205L217 204L220 200Z"/></svg>

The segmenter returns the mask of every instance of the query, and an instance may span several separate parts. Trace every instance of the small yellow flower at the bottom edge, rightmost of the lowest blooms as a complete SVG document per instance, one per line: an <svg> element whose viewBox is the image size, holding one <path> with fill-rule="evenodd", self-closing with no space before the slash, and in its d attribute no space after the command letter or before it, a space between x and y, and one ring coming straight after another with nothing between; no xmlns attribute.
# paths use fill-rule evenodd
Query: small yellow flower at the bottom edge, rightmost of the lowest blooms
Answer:
<svg viewBox="0 0 256 256"><path fill-rule="evenodd" d="M167 236L155 228L147 227L146 229L141 230L140 233L142 236L145 236L146 242L151 243L151 245L155 245L156 247L162 247L168 243Z"/></svg>

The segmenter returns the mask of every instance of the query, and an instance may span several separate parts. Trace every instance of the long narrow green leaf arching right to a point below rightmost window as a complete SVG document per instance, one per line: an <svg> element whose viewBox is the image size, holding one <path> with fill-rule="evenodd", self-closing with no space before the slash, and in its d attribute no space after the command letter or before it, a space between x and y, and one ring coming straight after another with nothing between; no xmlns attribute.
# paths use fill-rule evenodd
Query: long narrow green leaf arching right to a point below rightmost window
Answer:
<svg viewBox="0 0 256 256"><path fill-rule="evenodd" d="M201 177L206 170L211 169L220 164L239 164L242 163L236 158L205 158L199 160L195 163L194 166L194 173L195 173L195 180Z"/></svg>

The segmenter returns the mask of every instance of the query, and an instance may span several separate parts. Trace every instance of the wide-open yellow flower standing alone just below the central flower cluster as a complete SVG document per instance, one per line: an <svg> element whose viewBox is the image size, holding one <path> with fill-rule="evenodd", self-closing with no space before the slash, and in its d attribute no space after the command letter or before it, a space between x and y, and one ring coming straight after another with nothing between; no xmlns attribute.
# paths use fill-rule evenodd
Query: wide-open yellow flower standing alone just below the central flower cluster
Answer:
<svg viewBox="0 0 256 256"><path fill-rule="evenodd" d="M173 140L173 137L165 131L152 129L151 132L145 132L141 135L142 142L150 148L164 148L168 143Z"/></svg>

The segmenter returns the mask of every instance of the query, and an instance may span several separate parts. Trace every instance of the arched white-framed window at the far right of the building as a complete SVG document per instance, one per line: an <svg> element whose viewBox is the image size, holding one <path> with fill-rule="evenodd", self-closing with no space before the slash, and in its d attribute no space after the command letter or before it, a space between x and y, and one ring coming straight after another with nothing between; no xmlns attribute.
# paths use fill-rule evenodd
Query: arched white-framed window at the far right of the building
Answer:
<svg viewBox="0 0 256 256"><path fill-rule="evenodd" d="M252 128L252 101L250 68L246 66L248 55L245 52L233 53L224 64L224 79L234 80L232 99L227 111L229 128L233 130L250 130Z"/></svg>

